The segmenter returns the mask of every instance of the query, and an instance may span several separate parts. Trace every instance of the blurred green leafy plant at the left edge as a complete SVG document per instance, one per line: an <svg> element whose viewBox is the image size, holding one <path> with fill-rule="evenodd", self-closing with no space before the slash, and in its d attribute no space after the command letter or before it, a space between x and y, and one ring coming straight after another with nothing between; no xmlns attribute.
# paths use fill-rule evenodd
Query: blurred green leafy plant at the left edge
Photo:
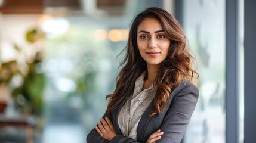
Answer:
<svg viewBox="0 0 256 143"><path fill-rule="evenodd" d="M42 38L44 38L44 33L38 29L30 29L26 33L26 41L31 44ZM23 49L17 45L14 45L14 49L19 55L25 55ZM44 73L38 71L43 60L42 51L35 52L29 58L21 57L1 63L0 86L6 86L10 90L14 105L21 114L40 116L44 105L45 83ZM16 84L18 81L15 77L20 79L20 84Z"/></svg>

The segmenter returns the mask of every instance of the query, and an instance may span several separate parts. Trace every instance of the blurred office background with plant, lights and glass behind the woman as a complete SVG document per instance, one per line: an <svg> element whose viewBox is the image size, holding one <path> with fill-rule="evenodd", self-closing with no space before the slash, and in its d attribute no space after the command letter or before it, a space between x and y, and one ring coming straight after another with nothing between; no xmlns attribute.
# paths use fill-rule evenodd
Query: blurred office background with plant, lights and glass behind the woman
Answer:
<svg viewBox="0 0 256 143"><path fill-rule="evenodd" d="M183 142L244 142L244 3L0 0L0 142L86 142L115 90L130 23L147 7L180 21L198 59Z"/></svg>

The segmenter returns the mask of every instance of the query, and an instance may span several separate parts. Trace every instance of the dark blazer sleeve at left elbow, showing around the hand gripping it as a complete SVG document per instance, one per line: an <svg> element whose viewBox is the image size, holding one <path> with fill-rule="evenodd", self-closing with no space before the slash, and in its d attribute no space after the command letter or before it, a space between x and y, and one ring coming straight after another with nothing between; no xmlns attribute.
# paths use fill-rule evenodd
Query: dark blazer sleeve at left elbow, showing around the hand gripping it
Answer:
<svg viewBox="0 0 256 143"><path fill-rule="evenodd" d="M106 113L104 114L103 118L106 117ZM104 139L98 134L97 130L93 128L91 132L87 135L87 143L109 143L107 139Z"/></svg>

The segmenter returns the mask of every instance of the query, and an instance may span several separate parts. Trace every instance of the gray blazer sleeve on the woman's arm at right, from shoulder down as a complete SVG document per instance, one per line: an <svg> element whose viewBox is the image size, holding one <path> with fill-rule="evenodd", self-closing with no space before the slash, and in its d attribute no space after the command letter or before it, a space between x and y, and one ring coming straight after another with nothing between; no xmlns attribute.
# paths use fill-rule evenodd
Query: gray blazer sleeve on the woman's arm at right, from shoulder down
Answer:
<svg viewBox="0 0 256 143"><path fill-rule="evenodd" d="M190 82L179 85L172 92L172 101L164 117L161 131L164 132L158 143L180 143L190 117L198 101L198 88Z"/></svg>

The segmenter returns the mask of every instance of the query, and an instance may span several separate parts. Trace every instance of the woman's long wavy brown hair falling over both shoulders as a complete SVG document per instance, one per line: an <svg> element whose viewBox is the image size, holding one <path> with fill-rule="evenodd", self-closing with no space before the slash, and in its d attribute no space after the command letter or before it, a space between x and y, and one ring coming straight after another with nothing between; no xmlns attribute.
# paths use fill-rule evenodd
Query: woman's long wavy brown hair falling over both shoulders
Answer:
<svg viewBox="0 0 256 143"><path fill-rule="evenodd" d="M144 18L156 18L162 24L166 36L171 40L168 56L159 65L158 75L154 81L156 86L156 95L154 98L155 110L149 116L161 114L167 102L171 97L172 89L185 79L196 85L196 79L199 75L195 68L195 58L190 54L187 37L180 24L171 14L161 8L147 8L134 18L125 52L124 60L120 67L122 68L116 78L116 89L113 94L106 96L109 99L107 105L107 114L111 116L113 110L119 107L121 103L133 94L135 80L147 71L146 61L140 55L137 45L137 27Z"/></svg>

